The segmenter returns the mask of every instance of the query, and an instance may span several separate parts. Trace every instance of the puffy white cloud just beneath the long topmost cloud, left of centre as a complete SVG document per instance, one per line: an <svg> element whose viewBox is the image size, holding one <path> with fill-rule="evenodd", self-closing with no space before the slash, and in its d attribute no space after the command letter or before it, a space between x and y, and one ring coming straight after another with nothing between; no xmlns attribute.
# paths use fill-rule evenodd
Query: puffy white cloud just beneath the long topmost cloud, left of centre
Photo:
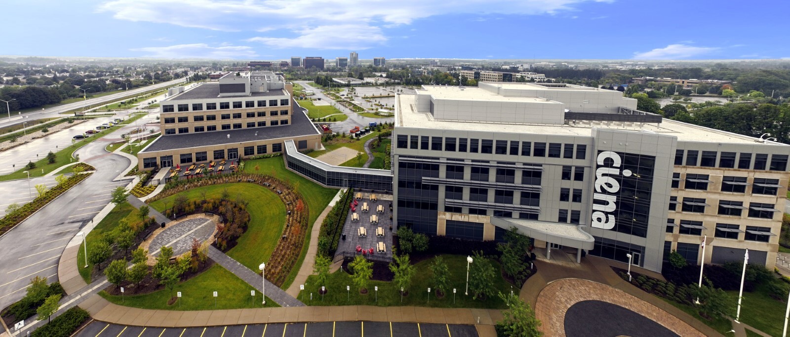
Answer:
<svg viewBox="0 0 790 337"><path fill-rule="evenodd" d="M275 49L312 48L312 49L352 49L365 50L373 45L385 43L387 38L381 28L367 24L337 24L297 31L294 38L260 36L247 39L248 42L263 43Z"/></svg>

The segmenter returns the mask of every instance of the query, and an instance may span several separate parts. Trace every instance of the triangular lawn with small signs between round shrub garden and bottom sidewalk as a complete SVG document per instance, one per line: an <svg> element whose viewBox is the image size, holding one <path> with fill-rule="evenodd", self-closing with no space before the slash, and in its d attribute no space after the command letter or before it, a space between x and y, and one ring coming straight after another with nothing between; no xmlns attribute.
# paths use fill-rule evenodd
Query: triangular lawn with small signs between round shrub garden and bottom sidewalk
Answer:
<svg viewBox="0 0 790 337"><path fill-rule="evenodd" d="M122 306L131 306L141 309L164 310L213 310L213 309L240 309L240 308L273 308L278 305L270 298L266 298L266 305L261 305L261 293L255 291L252 298L250 291L255 288L228 272L220 265L213 265L205 272L180 283L173 289L175 296L181 291L179 302L167 306L171 293L167 289L154 291L150 294L113 296L101 291L99 294L107 301ZM213 292L217 292L216 302ZM216 304L215 304L216 303Z"/></svg>

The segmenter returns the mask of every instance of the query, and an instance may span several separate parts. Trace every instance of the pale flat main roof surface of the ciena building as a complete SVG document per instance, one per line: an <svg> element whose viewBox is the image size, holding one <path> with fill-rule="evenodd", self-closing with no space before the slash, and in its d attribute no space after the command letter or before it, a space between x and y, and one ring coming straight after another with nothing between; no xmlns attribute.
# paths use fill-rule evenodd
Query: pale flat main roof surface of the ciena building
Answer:
<svg viewBox="0 0 790 337"><path fill-rule="evenodd" d="M510 84L510 83L506 83ZM458 87L441 87L441 91L459 90ZM454 89L451 89L454 88ZM419 93L420 91L418 91ZM462 92L462 91L460 91ZM487 91L483 91L487 92ZM569 135L592 136L592 128L607 128L614 130L630 130L653 132L662 135L674 135L681 142L701 143L737 143L760 144L757 138L738 135L732 132L720 131L713 128L704 128L694 124L682 123L676 120L664 119L660 124L619 123L608 121L584 121L574 125L569 124L515 124L491 122L467 122L457 120L435 120L431 113L419 113L416 106L416 95L397 94L396 99L396 125L403 128L430 128L436 130L465 130L484 132L506 132L536 135ZM475 95L465 96L466 99L475 98ZM499 99L502 99L501 97ZM524 99L524 98L521 98ZM534 99L534 98L532 98ZM766 141L762 144L788 146L782 143Z"/></svg>

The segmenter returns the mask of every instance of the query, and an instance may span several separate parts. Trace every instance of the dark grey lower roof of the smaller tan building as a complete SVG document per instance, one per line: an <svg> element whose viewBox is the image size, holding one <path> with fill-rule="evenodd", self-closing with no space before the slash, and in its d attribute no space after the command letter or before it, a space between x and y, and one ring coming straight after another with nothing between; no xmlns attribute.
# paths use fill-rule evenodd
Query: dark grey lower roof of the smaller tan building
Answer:
<svg viewBox="0 0 790 337"><path fill-rule="evenodd" d="M318 129L307 118L307 109L292 103L294 112L291 124L261 128L240 128L235 130L162 135L140 153L175 150L189 147L214 146L228 143L245 143L263 139L290 138L300 135L318 135ZM228 138L231 135L231 138Z"/></svg>

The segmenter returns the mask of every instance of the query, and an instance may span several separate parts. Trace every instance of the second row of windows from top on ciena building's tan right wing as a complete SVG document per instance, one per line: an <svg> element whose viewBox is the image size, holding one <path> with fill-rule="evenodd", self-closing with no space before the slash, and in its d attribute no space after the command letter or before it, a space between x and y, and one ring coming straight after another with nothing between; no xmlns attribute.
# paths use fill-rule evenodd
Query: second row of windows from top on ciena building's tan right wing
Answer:
<svg viewBox="0 0 790 337"><path fill-rule="evenodd" d="M708 191L709 175L706 174L686 174L686 180L680 179L680 173L672 173L672 188L679 188L683 181L683 188L687 190ZM721 180L722 192L746 193L747 177L745 176L724 176ZM778 179L754 178L751 183L751 194L777 195L781 185Z"/></svg>

